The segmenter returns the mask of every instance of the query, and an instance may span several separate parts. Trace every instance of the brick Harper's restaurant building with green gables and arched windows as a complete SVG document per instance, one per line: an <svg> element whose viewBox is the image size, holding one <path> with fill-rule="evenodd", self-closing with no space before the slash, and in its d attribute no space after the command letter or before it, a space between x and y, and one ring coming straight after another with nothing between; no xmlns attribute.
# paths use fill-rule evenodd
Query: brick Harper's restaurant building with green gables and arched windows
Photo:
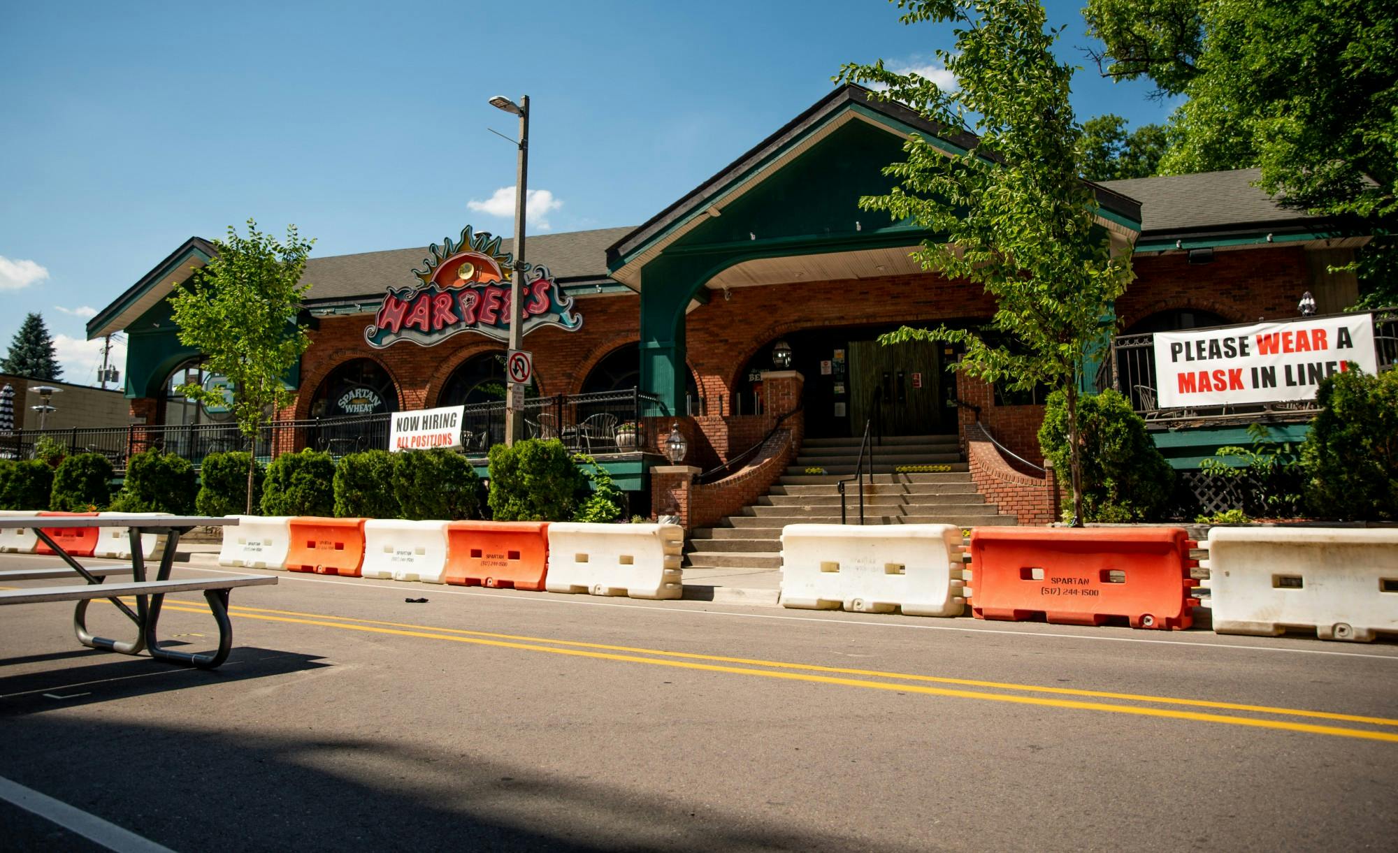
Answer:
<svg viewBox="0 0 1398 853"><path fill-rule="evenodd" d="M860 196L892 187L882 168L902 158L913 133L948 152L972 144L860 87L840 87L639 227L531 236L526 260L552 275L549 310L580 317L580 324L526 327L535 364L531 397L583 399L554 410L541 403L531 428L586 435L590 415L579 407L597 406L589 394L639 389L637 408L617 425L636 421L642 445L618 438L600 457L625 488L649 491L656 510L684 509L698 524L761 494L802 439L858 436L877 411L885 435L958 436L984 494L1021 520L1051 517L1053 473L1039 470L1039 396L949 372L955 352L946 347L875 341L902 324L973 327L993 312L974 287L909 259L937 235L858 208ZM1334 236L1325 221L1278 206L1255 179L1244 169L1092 185L1097 225L1117 250L1134 252L1135 281L1116 305L1124 336L1295 317L1304 292L1321 313L1353 303L1353 278L1327 268L1343 263L1355 243ZM299 393L280 417L317 422L498 399L505 344L474 333L484 319L470 327L452 313L464 303L450 302L443 334L426 334L424 313L419 343L384 345L387 326L376 324L401 333L408 308L404 302L384 319L391 294L407 301L431 281L446 288L445 270L463 287L488 288L482 263L492 259L507 274L510 241L485 245L474 232L463 239L485 249L473 256L471 280L460 256L440 257L439 246L312 259L303 320L313 343L288 376ZM217 413L172 392L203 375L199 354L179 344L165 301L212 253L192 238L88 324L89 337L129 334L126 396L131 415L152 428L218 422ZM425 260L432 263L418 270ZM1153 375L1128 361L1114 352L1090 365L1085 386L1117 385L1138 408L1155 410ZM1274 420L1292 432L1304 421L1272 411L1250 420ZM735 464L707 482L667 468L658 452L671 425L688 439L686 464L700 471ZM1181 467L1236 442L1246 424L1184 425L1162 429L1158 442ZM315 445L316 435L296 446ZM651 477L654 467L665 470Z"/></svg>

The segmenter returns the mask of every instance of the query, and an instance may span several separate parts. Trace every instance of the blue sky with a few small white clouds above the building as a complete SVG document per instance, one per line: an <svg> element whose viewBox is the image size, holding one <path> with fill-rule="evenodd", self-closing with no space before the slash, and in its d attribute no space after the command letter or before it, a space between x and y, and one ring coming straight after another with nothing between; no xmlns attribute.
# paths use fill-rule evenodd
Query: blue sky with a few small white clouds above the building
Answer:
<svg viewBox="0 0 1398 853"><path fill-rule="evenodd" d="M1148 84L1089 67L1079 4L1060 55L1079 120L1160 122ZM27 312L64 379L84 323L192 235L295 222L315 255L512 231L530 95L530 229L635 225L830 91L844 62L935 64L946 27L882 0L238 4L0 0L0 347ZM509 193L499 200L510 199ZM473 201L475 203L473 206Z"/></svg>

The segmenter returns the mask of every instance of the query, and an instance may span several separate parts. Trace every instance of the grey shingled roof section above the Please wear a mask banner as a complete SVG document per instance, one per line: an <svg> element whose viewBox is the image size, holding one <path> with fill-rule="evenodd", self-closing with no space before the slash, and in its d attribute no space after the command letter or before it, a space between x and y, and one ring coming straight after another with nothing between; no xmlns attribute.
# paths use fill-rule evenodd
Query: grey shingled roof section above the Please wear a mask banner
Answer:
<svg viewBox="0 0 1398 853"><path fill-rule="evenodd" d="M1261 169L1232 169L1099 183L1141 203L1142 238L1239 228L1257 231L1317 218L1282 207L1254 186L1261 173Z"/></svg>

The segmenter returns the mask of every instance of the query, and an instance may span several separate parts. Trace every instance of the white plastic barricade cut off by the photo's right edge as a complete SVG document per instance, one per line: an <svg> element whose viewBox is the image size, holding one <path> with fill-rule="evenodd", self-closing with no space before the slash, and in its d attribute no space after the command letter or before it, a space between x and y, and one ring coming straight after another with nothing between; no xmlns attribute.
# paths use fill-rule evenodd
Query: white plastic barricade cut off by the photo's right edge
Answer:
<svg viewBox="0 0 1398 853"><path fill-rule="evenodd" d="M1398 632L1398 530L1213 527L1206 543L1218 633L1370 642Z"/></svg>

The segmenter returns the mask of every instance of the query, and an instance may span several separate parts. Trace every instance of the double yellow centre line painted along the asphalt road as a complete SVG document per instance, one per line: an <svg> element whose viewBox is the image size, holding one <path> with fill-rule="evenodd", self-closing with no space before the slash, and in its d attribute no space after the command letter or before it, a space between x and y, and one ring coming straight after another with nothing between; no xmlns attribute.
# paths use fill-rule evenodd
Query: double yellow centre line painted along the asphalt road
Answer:
<svg viewBox="0 0 1398 853"><path fill-rule="evenodd" d="M165 608L176 610L180 612L204 612L204 614L208 612L208 608L204 607L201 603L176 601L172 598L165 600ZM1096 710L1104 713L1166 717L1176 720L1191 720L1198 723L1223 723L1229 726L1250 726L1255 729L1306 731L1310 734L1328 734L1334 737L1353 737L1363 740L1398 743L1398 731L1352 729L1346 726L1324 726L1317 723L1303 723L1295 720L1274 720L1264 717L1234 716L1223 713L1209 713L1204 710L1184 710L1184 708L1209 709L1211 712L1232 710L1241 713L1272 715L1282 717L1331 720L1336 723L1359 723L1366 726L1398 727L1398 719L1388 719L1388 717L1332 713L1324 710L1302 710L1295 708L1272 708L1267 705L1244 705L1237 702L1211 702L1205 699L1183 699L1174 696L1152 696L1142 694L1088 691L1088 689L1076 689L1067 687L1042 687L1033 684L1011 684L1000 681L979 681L969 678L946 678L939 675L921 675L913 673L886 673L881 670L825 667L816 664L761 660L751 657L730 657L721 654L696 654L689 652L668 652L663 649L614 646L607 643L586 643L586 642L559 640L559 639L538 638L538 636L495 633L488 631L467 631L461 628L411 625L404 622L386 622L379 619L356 619L350 617L298 612L289 610L268 610L263 607L235 605L229 608L229 615L245 619L261 619L267 622L315 625L319 628L337 628L341 631L358 631L365 633L382 633L393 636L411 636L418 639L471 643L478 646L493 646L498 649L514 649L520 652L544 652L549 654L568 654L573 657L589 657L596 660L612 660L622 663L675 667L685 670L699 670L706 673L724 673L731 675L780 678L786 681L833 684L840 687L898 691L905 694L923 694L930 696L949 696L956 699L1011 702L1016 705L1036 705L1040 708ZM850 678L850 675L858 675L861 678ZM881 678L884 681L870 681L870 678ZM955 687L930 687L931 684L955 685ZM959 688L984 688L984 689L959 689ZM1005 692L987 692L987 689L1005 691ZM1040 695L1032 695L1032 694L1040 694ZM1048 698L1043 694L1055 698ZM1078 698L1068 699L1057 696L1078 696ZM1117 703L1096 702L1088 699L1116 699L1120 702L1138 702L1148 705L1117 705ZM1152 708L1151 705L1166 705L1172 708Z"/></svg>

